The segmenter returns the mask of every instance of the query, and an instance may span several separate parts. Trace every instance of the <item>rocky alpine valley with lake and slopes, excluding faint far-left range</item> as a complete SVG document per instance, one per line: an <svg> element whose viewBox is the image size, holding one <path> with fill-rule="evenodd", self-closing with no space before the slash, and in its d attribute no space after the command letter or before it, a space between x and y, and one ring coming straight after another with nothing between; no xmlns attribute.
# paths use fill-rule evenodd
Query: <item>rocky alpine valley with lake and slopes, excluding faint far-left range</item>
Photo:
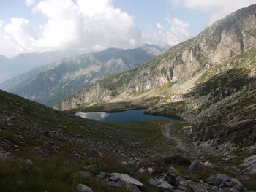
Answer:
<svg viewBox="0 0 256 192"><path fill-rule="evenodd" d="M256 191L255 26L252 4L166 51L108 48L2 83L0 191Z"/></svg>

